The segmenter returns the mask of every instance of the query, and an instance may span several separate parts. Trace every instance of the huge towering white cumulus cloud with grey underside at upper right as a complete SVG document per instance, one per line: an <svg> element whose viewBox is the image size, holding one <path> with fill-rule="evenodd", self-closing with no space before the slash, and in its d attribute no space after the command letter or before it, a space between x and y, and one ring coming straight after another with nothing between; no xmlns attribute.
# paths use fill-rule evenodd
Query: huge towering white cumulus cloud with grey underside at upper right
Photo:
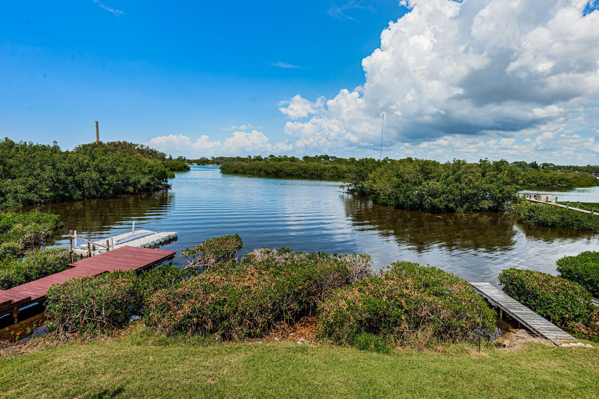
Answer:
<svg viewBox="0 0 599 399"><path fill-rule="evenodd" d="M383 114L388 149L447 137L451 147L471 136L496 138L497 147L503 138L585 129L599 100L599 11L583 16L587 3L405 1L412 10L362 60L365 83L326 102L290 99L280 110L310 119L289 121L285 132L298 149L374 150ZM468 146L456 153L476 151Z"/></svg>

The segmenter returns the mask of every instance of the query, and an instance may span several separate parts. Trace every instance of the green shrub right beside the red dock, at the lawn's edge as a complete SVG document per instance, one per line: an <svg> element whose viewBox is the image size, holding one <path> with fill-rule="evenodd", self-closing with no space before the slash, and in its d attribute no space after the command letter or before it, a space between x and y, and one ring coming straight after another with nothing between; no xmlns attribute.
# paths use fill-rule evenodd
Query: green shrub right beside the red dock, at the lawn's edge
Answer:
<svg viewBox="0 0 599 399"><path fill-rule="evenodd" d="M47 325L64 332L122 328L131 316L143 315L147 296L176 286L184 274L169 265L140 275L117 270L53 285L46 296L46 315L53 321Z"/></svg>

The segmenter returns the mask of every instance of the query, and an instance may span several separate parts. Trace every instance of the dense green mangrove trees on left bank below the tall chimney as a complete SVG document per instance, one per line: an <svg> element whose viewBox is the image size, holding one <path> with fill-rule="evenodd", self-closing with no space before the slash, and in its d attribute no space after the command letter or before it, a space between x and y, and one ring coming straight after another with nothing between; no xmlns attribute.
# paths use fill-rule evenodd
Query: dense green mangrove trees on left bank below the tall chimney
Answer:
<svg viewBox="0 0 599 399"><path fill-rule="evenodd" d="M0 141L0 205L56 203L169 188L163 160L101 145L62 151L58 144ZM146 151L146 149L142 149Z"/></svg>

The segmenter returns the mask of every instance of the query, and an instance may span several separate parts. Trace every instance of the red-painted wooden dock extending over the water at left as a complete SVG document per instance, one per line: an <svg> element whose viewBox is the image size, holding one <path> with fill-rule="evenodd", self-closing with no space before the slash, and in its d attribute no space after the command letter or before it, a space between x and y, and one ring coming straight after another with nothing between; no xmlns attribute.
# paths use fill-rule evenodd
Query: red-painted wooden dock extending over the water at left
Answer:
<svg viewBox="0 0 599 399"><path fill-rule="evenodd" d="M176 251L164 249L140 248L122 246L113 251L104 252L76 263L71 263L71 269L28 282L10 290L0 290L0 316L16 313L19 309L46 299L48 289L54 284L69 281L72 278L97 276L113 270L143 270L158 266L174 257Z"/></svg>

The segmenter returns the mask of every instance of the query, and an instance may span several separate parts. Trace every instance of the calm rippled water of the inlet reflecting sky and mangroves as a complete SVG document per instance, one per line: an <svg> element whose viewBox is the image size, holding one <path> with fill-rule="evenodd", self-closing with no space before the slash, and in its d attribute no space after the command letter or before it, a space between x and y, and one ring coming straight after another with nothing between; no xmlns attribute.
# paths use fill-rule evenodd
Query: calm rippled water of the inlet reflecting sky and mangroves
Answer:
<svg viewBox="0 0 599 399"><path fill-rule="evenodd" d="M231 175L192 166L171 183L171 190L159 193L20 209L60 215L66 227L59 245L68 245L68 230L101 239L131 230L135 220L136 229L179 232L179 240L164 249L181 251L208 237L238 233L247 251L285 246L363 252L377 269L403 259L492 284L507 267L555 273L558 258L599 244L599 234L525 226L503 214L435 215L379 206L344 194L339 182L326 179ZM598 194L597 187L561 189L558 197L595 202ZM182 263L178 255L176 262Z"/></svg>

